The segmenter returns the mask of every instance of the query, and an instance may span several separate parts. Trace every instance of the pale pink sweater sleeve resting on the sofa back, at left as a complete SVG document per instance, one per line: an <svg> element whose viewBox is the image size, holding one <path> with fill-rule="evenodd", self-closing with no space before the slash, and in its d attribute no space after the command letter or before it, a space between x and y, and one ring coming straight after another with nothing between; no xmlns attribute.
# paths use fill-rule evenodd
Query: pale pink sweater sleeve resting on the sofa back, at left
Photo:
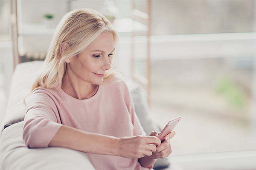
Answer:
<svg viewBox="0 0 256 170"><path fill-rule="evenodd" d="M62 125L54 97L47 91L35 90L27 102L23 140L27 147L48 147Z"/></svg>

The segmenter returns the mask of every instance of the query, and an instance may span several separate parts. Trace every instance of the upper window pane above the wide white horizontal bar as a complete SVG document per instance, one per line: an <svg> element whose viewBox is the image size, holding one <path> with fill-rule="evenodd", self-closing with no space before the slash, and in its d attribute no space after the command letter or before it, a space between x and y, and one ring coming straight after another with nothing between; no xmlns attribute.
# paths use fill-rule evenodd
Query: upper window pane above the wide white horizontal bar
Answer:
<svg viewBox="0 0 256 170"><path fill-rule="evenodd" d="M153 0L154 35L255 32L255 0Z"/></svg>

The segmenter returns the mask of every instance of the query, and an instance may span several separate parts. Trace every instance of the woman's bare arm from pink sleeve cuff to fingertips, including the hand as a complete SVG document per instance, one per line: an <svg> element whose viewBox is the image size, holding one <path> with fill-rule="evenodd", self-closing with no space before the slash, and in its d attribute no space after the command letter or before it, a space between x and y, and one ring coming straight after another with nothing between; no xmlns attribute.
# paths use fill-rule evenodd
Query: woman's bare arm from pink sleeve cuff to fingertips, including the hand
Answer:
<svg viewBox="0 0 256 170"><path fill-rule="evenodd" d="M115 155L125 158L151 156L160 140L156 136L131 136L116 138L89 133L73 127L61 126L48 146L66 147L86 153Z"/></svg>

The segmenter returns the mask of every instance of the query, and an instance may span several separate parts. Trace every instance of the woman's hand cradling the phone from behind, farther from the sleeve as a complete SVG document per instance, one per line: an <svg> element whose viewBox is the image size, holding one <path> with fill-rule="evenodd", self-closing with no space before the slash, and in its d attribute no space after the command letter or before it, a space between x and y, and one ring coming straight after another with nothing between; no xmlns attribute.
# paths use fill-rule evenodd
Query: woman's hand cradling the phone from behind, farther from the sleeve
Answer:
<svg viewBox="0 0 256 170"><path fill-rule="evenodd" d="M158 136L157 132L153 131L151 132L150 136ZM175 136L175 131L172 131L168 135L165 136L165 140L157 146L156 152L152 153L151 158L152 159L158 159L158 158L166 158L172 153L172 146L170 144L170 140L173 136Z"/></svg>

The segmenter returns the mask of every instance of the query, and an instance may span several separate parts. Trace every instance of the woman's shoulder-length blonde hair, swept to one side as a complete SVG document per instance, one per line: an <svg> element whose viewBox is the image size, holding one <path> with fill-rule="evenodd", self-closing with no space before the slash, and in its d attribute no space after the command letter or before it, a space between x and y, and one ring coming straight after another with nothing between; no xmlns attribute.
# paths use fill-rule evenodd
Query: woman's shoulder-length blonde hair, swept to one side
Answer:
<svg viewBox="0 0 256 170"><path fill-rule="evenodd" d="M61 88L62 79L66 72L68 57L81 53L101 33L113 34L114 44L118 33L102 14L92 9L76 9L67 13L58 24L50 43L44 64L32 85L35 88ZM63 50L65 46L68 46ZM115 75L113 69L105 73L103 82Z"/></svg>

